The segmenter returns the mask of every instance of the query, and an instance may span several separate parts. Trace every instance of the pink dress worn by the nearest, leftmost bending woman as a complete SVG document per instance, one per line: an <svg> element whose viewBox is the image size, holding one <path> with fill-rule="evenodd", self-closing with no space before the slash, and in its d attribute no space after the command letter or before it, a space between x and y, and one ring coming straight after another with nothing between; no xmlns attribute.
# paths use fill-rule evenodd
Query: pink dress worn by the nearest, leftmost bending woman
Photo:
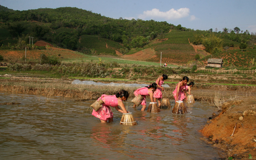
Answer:
<svg viewBox="0 0 256 160"><path fill-rule="evenodd" d="M113 112L109 106L111 106L111 107L118 106L119 99L116 98L116 95L113 95L113 96L101 95L101 98L99 98L99 99L103 100L103 102L105 102L105 103L102 104L102 107L99 108L99 110L97 112L95 110L93 110L92 115L94 115L95 117L97 117L103 121L108 121L108 119L113 118ZM122 101L122 100L120 100L120 101Z"/></svg>

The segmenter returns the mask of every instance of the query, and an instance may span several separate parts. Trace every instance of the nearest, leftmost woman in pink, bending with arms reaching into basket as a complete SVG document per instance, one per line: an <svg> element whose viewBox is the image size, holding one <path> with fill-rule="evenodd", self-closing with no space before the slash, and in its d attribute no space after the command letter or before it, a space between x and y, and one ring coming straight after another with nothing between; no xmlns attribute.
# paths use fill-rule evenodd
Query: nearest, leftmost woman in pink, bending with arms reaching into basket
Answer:
<svg viewBox="0 0 256 160"><path fill-rule="evenodd" d="M113 122L113 112L109 106L115 107L121 113L128 113L125 109L123 100L127 100L129 93L125 90L118 92L116 95L101 95L99 99L103 100L102 107L96 112L93 110L92 115L99 118L102 123ZM99 100L98 99L98 100ZM122 109L120 109L120 106Z"/></svg>

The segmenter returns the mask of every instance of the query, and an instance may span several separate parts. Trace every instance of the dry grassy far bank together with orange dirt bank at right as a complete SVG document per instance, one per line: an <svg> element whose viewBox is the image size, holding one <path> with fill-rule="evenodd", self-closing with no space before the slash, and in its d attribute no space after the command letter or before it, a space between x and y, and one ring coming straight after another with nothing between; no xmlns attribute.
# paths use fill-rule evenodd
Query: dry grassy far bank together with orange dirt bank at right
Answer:
<svg viewBox="0 0 256 160"><path fill-rule="evenodd" d="M0 91L11 94L36 94L72 97L74 100L97 99L102 94L113 95L125 89L133 98L134 87L112 87L71 84L74 79L40 79L6 77L0 79ZM110 81L95 80L109 83ZM142 81L114 81L114 83L145 83ZM147 84L147 83L146 83ZM165 88L163 98L173 100L176 84ZM229 157L244 159L256 157L256 87L227 85L195 85L191 90L195 100L214 105L223 103L221 111L213 113L200 131L204 140L223 149ZM217 99L218 97L218 99ZM12 102L10 102L12 103ZM15 103L15 102L14 102Z"/></svg>

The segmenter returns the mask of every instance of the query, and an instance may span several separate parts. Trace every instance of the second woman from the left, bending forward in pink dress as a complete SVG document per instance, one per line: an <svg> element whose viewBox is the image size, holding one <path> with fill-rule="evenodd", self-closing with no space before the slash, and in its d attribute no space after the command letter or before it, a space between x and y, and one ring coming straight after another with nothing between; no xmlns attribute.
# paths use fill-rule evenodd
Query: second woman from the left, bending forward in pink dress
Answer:
<svg viewBox="0 0 256 160"><path fill-rule="evenodd" d="M149 95L151 102L154 102L153 94L156 89L157 89L157 84L152 83L148 87L142 87L142 88L136 89L136 91L134 91L135 96L138 96L140 94L144 97L144 99L140 103L142 105L142 108L141 108L142 111L144 111L146 109L146 104L147 104L146 96ZM134 104L133 107L136 107L136 105Z"/></svg>

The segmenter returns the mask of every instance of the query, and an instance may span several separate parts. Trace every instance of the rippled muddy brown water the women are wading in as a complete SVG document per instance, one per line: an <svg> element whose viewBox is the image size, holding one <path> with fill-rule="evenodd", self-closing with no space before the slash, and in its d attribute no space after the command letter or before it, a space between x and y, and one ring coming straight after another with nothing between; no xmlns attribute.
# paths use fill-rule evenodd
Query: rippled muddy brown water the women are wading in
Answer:
<svg viewBox="0 0 256 160"><path fill-rule="evenodd" d="M0 92L0 159L172 159L217 160L222 151L200 140L198 130L217 109L185 104L189 114L172 110L142 113L128 108L138 125L120 125L121 113L112 108L114 122L101 123L91 115L95 100L76 102L64 97L12 95ZM129 99L131 102L131 99ZM147 100L148 102L148 100ZM172 107L174 106L171 100ZM125 102L125 106L132 103Z"/></svg>

